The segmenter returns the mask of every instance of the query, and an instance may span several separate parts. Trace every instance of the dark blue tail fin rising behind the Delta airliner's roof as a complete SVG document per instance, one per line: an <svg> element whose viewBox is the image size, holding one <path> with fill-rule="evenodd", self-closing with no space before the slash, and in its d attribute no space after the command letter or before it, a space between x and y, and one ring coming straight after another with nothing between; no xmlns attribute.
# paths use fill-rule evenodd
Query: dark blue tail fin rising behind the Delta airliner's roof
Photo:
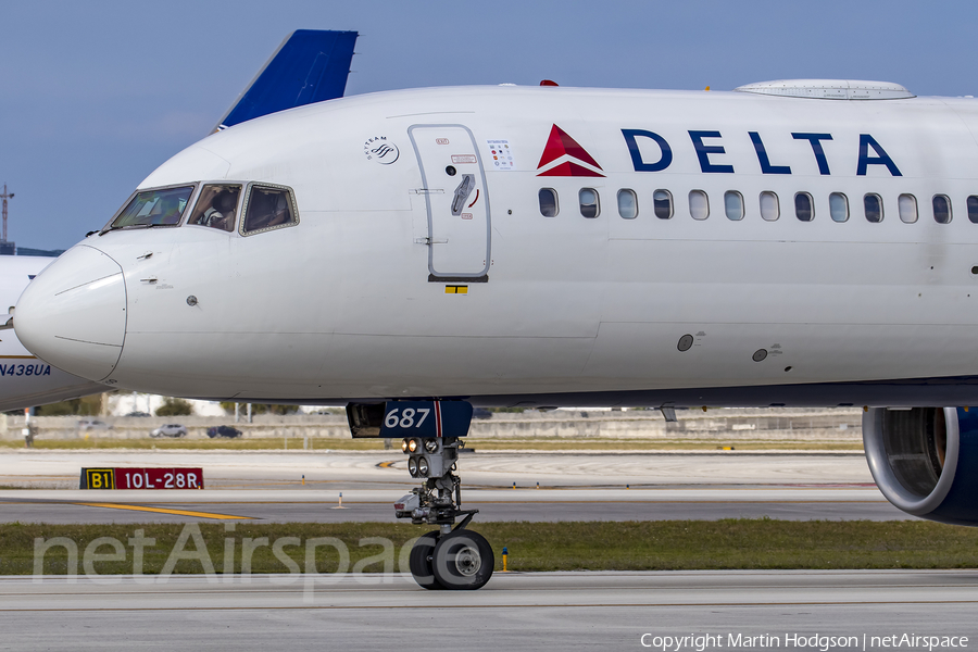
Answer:
<svg viewBox="0 0 978 652"><path fill-rule="evenodd" d="M356 32L297 29L259 72L214 129L343 97Z"/></svg>

